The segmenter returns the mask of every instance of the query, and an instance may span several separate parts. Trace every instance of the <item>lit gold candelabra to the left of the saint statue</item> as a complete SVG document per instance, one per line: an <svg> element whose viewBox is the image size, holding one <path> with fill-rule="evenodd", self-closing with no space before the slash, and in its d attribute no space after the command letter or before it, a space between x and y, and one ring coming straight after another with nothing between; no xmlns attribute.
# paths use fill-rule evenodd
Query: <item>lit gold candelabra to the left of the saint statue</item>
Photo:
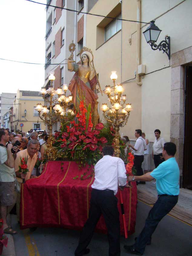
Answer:
<svg viewBox="0 0 192 256"><path fill-rule="evenodd" d="M67 107L68 103L72 101L72 96L66 97L67 85L63 85L63 90L62 88L58 88L56 91L54 90L53 81L55 80L55 76L53 73L50 74L49 80L51 81L51 87L48 90L41 88L41 91L39 91L46 105L42 106L41 103L38 103L35 110L38 111L39 117L48 127L47 158L48 160L55 160L57 158L57 150L52 146L55 141L52 135L52 125L60 121L63 116L67 118ZM49 95L49 97L46 97L46 95ZM54 97L55 95L58 95L58 97Z"/></svg>

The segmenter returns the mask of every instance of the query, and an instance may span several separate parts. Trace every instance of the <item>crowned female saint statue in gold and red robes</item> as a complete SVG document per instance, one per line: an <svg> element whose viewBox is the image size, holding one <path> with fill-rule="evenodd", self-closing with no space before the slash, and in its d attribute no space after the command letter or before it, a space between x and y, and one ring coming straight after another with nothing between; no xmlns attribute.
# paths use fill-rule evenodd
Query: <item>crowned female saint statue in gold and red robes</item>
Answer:
<svg viewBox="0 0 192 256"><path fill-rule="evenodd" d="M93 64L93 54L90 49L83 47L80 51L80 58L81 64L74 64L73 54L68 58L68 71L75 72L68 89L71 91L75 106L79 100L82 101L85 98L87 107L91 103L91 112L94 113L97 112L94 108L98 105L98 95L94 93L94 89L99 85L99 81Z"/></svg>

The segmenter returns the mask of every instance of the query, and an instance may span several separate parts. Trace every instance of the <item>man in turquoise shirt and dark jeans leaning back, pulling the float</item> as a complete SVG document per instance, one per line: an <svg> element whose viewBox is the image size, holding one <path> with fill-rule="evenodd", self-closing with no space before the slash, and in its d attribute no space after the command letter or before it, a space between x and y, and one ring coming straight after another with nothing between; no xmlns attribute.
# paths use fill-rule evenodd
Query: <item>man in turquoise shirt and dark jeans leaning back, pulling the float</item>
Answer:
<svg viewBox="0 0 192 256"><path fill-rule="evenodd" d="M156 179L158 199L148 214L145 226L137 237L135 244L124 245L126 251L132 254L143 255L145 246L151 244L151 236L161 219L168 214L178 201L179 194L179 167L174 158L176 145L172 142L164 144L161 163L153 171L141 176L129 176L129 181L152 181Z"/></svg>

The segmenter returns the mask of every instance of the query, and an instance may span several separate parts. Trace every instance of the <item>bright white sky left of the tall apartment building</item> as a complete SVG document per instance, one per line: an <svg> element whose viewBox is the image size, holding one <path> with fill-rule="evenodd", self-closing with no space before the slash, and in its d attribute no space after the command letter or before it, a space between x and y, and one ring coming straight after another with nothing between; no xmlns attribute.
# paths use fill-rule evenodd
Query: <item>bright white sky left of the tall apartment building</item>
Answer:
<svg viewBox="0 0 192 256"><path fill-rule="evenodd" d="M46 0L36 2L46 3ZM0 0L0 58L45 64L45 5L25 0ZM19 90L40 91L44 65L0 59L0 93Z"/></svg>

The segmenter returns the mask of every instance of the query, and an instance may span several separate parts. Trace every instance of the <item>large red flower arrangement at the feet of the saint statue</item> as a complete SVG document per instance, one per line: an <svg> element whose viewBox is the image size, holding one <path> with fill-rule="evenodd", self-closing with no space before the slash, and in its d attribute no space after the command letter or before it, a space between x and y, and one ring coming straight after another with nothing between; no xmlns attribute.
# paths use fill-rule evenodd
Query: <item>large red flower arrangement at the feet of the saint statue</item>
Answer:
<svg viewBox="0 0 192 256"><path fill-rule="evenodd" d="M79 168L86 164L95 165L102 157L103 145L108 142L104 136L100 136L103 128L102 123L95 126L92 124L91 105L86 109L84 101L81 101L75 120L61 125L61 132L55 138L55 145L59 147L58 154L76 161Z"/></svg>

